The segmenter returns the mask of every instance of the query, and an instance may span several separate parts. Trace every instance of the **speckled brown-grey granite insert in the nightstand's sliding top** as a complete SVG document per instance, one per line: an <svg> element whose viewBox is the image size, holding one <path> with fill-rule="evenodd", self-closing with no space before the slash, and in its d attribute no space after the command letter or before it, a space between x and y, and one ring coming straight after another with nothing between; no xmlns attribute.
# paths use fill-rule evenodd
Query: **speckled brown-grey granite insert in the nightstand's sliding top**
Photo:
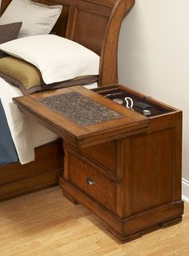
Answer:
<svg viewBox="0 0 189 256"><path fill-rule="evenodd" d="M79 126L123 118L117 111L75 92L45 97L38 101Z"/></svg>

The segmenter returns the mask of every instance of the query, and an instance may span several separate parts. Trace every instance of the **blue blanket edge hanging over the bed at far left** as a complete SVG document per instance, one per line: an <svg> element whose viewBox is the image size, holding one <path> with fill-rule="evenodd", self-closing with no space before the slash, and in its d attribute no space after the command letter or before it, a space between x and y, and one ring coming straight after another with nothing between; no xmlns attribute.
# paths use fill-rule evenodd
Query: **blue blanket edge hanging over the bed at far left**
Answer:
<svg viewBox="0 0 189 256"><path fill-rule="evenodd" d="M6 114L0 99L0 165L18 161L18 155L6 121Z"/></svg>

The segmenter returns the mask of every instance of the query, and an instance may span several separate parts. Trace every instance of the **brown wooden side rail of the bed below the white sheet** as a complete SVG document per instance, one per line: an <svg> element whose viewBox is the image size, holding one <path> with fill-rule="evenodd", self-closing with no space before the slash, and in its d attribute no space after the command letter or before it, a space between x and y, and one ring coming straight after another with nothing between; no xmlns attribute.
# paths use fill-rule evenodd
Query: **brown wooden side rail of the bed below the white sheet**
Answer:
<svg viewBox="0 0 189 256"><path fill-rule="evenodd" d="M0 200L58 184L63 171L62 140L37 147L35 161L0 167Z"/></svg>

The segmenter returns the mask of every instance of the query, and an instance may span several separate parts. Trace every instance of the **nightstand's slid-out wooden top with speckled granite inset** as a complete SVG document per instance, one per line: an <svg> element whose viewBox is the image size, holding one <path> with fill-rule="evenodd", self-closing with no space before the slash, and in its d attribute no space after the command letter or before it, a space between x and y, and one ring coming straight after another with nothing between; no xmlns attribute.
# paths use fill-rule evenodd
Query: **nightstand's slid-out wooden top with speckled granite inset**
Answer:
<svg viewBox="0 0 189 256"><path fill-rule="evenodd" d="M137 111L82 86L16 97L14 103L77 147L144 133L149 123L149 118Z"/></svg>

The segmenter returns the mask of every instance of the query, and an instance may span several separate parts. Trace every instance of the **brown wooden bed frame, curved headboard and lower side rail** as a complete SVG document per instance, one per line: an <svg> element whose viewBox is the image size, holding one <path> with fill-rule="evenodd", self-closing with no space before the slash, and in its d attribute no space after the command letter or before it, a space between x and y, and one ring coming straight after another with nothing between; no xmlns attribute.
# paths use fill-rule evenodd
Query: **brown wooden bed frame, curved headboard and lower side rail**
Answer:
<svg viewBox="0 0 189 256"><path fill-rule="evenodd" d="M2 0L1 14L10 0ZM34 1L49 6L62 5L62 12L53 33L80 43L100 56L98 86L118 83L117 50L119 29L123 17L135 0L41 0ZM92 24L92 26L91 26ZM32 122L34 161L18 162L0 167L0 200L58 184L63 171L62 139ZM41 135L39 135L41 134ZM44 136L44 138L42 138Z"/></svg>

